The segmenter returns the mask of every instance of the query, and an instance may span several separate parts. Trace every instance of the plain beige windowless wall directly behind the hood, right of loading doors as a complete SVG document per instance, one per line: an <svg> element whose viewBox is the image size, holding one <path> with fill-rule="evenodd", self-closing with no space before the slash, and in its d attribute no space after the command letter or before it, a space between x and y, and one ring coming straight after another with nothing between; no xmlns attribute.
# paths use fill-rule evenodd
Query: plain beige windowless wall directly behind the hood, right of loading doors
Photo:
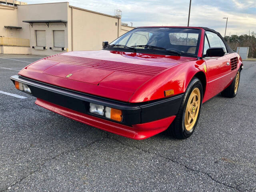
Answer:
<svg viewBox="0 0 256 192"><path fill-rule="evenodd" d="M120 18L73 8L73 50L99 50L118 38Z"/></svg>

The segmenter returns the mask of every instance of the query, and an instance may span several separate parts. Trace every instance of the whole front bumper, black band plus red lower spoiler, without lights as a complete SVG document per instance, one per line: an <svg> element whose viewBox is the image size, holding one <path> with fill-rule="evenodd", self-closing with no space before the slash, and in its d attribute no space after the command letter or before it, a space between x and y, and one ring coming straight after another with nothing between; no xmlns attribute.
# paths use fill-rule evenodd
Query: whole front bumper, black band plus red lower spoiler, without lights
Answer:
<svg viewBox="0 0 256 192"><path fill-rule="evenodd" d="M68 118L113 132L128 138L144 139L168 128L178 112L182 95L153 102L126 103L93 96L22 76L11 80L27 84L36 104ZM100 104L122 110L122 122L116 122L89 112L89 103Z"/></svg>

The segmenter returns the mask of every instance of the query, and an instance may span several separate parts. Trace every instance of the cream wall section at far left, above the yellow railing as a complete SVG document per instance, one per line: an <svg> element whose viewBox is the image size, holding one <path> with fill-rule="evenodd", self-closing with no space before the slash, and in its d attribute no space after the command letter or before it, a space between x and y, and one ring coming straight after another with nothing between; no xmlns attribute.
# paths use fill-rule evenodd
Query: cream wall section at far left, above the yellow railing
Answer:
<svg viewBox="0 0 256 192"><path fill-rule="evenodd" d="M16 7L0 4L0 36L8 38L19 38L22 29L4 28L4 26L18 26L18 9Z"/></svg>

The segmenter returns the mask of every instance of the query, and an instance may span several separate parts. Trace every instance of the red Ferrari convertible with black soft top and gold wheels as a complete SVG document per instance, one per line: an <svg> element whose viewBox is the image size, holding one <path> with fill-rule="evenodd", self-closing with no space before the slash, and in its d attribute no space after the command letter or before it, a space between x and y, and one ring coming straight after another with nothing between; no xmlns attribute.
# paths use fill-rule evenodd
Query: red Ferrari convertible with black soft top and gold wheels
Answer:
<svg viewBox="0 0 256 192"><path fill-rule="evenodd" d="M204 27L139 27L98 51L38 60L12 76L48 110L132 139L188 138L202 103L236 96L240 56Z"/></svg>

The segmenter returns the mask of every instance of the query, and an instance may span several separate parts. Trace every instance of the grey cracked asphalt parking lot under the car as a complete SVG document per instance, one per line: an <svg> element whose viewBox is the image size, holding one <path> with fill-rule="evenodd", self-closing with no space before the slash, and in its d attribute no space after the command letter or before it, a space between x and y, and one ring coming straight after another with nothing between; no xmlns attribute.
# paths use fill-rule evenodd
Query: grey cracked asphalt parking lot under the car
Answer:
<svg viewBox="0 0 256 192"><path fill-rule="evenodd" d="M235 98L203 104L190 138L138 141L16 90L10 76L41 57L0 54L0 192L256 191L256 61L244 61Z"/></svg>

